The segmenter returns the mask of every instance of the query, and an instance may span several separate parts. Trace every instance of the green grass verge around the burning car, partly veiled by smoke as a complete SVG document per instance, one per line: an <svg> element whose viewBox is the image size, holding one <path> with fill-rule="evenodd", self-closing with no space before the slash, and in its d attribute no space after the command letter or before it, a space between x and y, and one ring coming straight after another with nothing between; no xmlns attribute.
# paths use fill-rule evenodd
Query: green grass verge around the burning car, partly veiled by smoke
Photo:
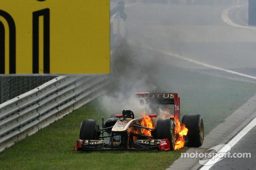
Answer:
<svg viewBox="0 0 256 170"><path fill-rule="evenodd" d="M181 114L201 114L208 133L256 93L256 85L173 69L171 92L181 97ZM52 125L28 136L0 154L0 169L166 169L180 157L178 151L74 152L84 119L108 118L90 103Z"/></svg>

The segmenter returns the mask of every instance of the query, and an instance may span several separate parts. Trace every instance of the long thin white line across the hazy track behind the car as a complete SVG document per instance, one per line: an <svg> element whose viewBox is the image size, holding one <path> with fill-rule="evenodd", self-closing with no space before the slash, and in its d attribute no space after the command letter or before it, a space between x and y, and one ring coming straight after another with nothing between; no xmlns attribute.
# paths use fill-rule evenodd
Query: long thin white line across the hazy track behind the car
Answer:
<svg viewBox="0 0 256 170"><path fill-rule="evenodd" d="M151 49L151 48L150 48L150 49ZM151 50L156 50L156 49L151 49ZM212 65L209 65L209 64L200 62L200 61L196 61L196 60L194 60L194 59L190 59L190 58L187 58L187 57L183 57L183 56L178 55L178 54L174 54L174 53L170 53L170 52L166 52L166 51L160 51L160 50L156 50L156 51L158 51L158 52L160 52L160 53L163 53L163 54L167 54L167 55L176 57L176 58L180 58L180 59L183 59L183 60L186 60L186 61L195 63L195 64L198 64L198 65L202 65L202 66L209 67L209 68L216 69L216 70L221 70L221 71L223 71L223 72L227 72L227 73L231 73L231 74L237 74L237 75L239 75L239 76L248 77L248 78L252 78L252 79L255 79L255 80L256 80L256 77L254 77L254 76L250 76L250 75L247 75L247 74L234 72L234 71L232 71L232 70L222 69L221 67L212 66Z"/></svg>

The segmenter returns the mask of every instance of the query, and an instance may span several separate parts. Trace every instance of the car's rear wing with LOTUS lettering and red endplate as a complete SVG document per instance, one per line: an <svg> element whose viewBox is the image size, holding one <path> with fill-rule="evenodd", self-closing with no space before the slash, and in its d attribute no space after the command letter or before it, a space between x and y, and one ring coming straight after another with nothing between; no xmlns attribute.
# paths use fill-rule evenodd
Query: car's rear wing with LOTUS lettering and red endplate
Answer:
<svg viewBox="0 0 256 170"><path fill-rule="evenodd" d="M178 116L180 119L180 97L178 93L149 93L149 92L136 92L140 99L147 100L150 104L173 104L174 116Z"/></svg>

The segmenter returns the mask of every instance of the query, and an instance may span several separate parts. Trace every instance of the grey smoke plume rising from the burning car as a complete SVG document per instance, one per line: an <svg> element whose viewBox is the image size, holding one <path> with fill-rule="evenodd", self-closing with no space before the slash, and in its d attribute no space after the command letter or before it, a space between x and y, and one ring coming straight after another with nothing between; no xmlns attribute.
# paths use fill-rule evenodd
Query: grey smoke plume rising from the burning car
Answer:
<svg viewBox="0 0 256 170"><path fill-rule="evenodd" d="M111 57L110 86L100 99L103 108L109 113L120 113L123 109L152 112L148 105L139 104L135 92L167 92L158 81L159 68L165 60L148 54L140 44L130 45L125 38L118 41Z"/></svg>

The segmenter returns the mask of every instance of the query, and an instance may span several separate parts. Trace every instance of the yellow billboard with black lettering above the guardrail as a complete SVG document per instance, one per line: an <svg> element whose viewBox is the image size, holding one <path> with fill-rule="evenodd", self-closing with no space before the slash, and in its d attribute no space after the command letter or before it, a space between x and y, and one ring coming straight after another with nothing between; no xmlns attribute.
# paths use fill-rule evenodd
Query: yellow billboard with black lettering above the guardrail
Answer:
<svg viewBox="0 0 256 170"><path fill-rule="evenodd" d="M0 74L110 73L109 0L1 0Z"/></svg>

